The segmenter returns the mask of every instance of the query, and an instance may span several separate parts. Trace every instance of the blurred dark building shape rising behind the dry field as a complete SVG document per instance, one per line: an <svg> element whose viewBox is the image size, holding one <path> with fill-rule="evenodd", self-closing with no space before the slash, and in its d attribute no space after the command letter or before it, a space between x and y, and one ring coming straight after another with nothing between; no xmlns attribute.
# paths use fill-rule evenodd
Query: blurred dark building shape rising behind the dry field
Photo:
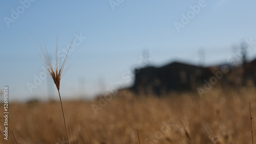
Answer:
<svg viewBox="0 0 256 144"><path fill-rule="evenodd" d="M161 67L135 69L134 74L134 84L127 89L138 94L163 95L172 91L205 93L212 87L236 89L254 86L256 59L246 62L244 54L240 64L224 63L207 67L175 61Z"/></svg>

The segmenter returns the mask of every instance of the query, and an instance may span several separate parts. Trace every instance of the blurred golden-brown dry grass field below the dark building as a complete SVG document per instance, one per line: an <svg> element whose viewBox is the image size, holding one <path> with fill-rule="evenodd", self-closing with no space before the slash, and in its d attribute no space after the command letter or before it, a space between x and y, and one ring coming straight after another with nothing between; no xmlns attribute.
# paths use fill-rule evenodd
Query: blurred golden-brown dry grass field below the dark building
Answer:
<svg viewBox="0 0 256 144"><path fill-rule="evenodd" d="M137 128L141 143L252 143L249 101L256 138L255 93L213 88L202 98L188 92L156 98L120 91L97 114L92 104L100 99L63 106L73 143L139 143ZM11 129L19 143L68 143L59 101L10 103L9 112L9 140L2 133L0 143L16 143Z"/></svg>

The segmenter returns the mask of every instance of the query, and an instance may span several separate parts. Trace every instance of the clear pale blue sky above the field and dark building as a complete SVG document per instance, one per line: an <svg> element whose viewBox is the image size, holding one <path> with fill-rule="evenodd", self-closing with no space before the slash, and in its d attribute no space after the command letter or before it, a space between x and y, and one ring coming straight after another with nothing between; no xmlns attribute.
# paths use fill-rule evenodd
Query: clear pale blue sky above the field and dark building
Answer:
<svg viewBox="0 0 256 144"><path fill-rule="evenodd" d="M1 1L0 90L9 86L11 100L46 100L52 93L58 98L53 82L42 77L33 46L39 46L37 38L45 41L54 58L57 34L65 54L77 33L60 84L66 99L131 85L127 71L143 66L145 53L156 66L174 60L198 65L199 50L205 51L205 65L226 63L232 47L256 41L255 6L252 0ZM256 50L248 55L256 57Z"/></svg>

